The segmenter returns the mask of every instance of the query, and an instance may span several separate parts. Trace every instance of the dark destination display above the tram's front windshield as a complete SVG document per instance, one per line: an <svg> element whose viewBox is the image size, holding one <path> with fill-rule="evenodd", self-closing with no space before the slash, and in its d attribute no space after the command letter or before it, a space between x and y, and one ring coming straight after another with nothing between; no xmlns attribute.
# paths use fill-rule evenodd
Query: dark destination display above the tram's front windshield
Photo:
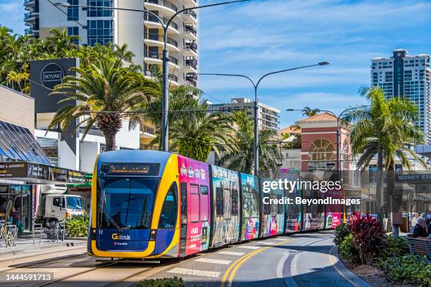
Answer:
<svg viewBox="0 0 431 287"><path fill-rule="evenodd" d="M158 175L158 163L142 162L104 162L101 164L101 175Z"/></svg>

